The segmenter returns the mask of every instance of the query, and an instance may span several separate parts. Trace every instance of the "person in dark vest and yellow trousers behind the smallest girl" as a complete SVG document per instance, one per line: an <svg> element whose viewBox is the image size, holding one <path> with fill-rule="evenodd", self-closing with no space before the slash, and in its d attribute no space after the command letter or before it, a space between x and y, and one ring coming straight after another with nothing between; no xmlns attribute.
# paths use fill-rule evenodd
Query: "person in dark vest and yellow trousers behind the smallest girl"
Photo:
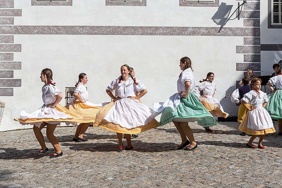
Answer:
<svg viewBox="0 0 282 188"><path fill-rule="evenodd" d="M241 99L244 97L244 95L246 93L251 91L251 88L249 86L249 78L248 77L246 77L246 76L243 77L241 82L243 83L242 87L239 87L238 89L233 91L233 93L231 95L231 101L234 102L234 103L236 102L236 103L240 104L239 110L238 110L238 123L239 123L239 125L243 121L243 119L245 118L245 116L248 112L248 109L241 104ZM247 106L250 107L249 104L247 104ZM246 136L247 134L242 132L242 133L240 133L240 135Z"/></svg>

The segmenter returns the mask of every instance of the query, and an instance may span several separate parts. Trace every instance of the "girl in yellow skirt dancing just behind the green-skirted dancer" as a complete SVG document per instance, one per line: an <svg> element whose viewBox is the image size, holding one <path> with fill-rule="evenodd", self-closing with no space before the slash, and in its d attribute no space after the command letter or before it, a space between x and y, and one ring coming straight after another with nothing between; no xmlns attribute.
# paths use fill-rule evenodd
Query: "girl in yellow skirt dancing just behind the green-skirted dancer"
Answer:
<svg viewBox="0 0 282 188"><path fill-rule="evenodd" d="M199 87L196 87L196 90L203 91L203 95L200 96L201 103L206 107L206 109L212 114L212 116L227 118L229 116L228 113L224 112L222 106L219 101L214 98L214 94L217 92L217 85L213 82L214 74L212 72L207 73L206 79L203 79L201 82L206 81ZM214 132L209 127L205 127L206 131Z"/></svg>

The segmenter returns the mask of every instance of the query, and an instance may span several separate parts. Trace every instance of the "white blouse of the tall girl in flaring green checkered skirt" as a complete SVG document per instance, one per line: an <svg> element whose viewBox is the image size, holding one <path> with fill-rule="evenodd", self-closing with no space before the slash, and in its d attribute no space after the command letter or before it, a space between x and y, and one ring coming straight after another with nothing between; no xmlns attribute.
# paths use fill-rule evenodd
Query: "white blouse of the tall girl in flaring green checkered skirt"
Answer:
<svg viewBox="0 0 282 188"><path fill-rule="evenodd" d="M181 76L177 80L177 92L185 92L185 81L190 81L191 87L190 91L193 91L196 88L196 82L191 68L185 69L182 71Z"/></svg>

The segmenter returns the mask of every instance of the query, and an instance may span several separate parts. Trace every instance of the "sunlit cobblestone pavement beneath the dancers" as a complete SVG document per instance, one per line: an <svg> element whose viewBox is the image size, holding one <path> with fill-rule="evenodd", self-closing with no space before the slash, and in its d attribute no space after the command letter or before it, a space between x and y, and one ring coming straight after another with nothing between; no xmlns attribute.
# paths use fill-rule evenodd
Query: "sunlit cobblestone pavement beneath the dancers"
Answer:
<svg viewBox="0 0 282 188"><path fill-rule="evenodd" d="M177 150L180 136L170 123L140 133L133 150L121 153L115 133L90 127L90 140L75 143L76 127L58 127L64 155L55 159L49 142L49 152L36 157L32 129L1 132L0 187L282 187L282 136L269 134L265 149L248 149L238 123L219 122L215 133L190 125L199 144L193 151Z"/></svg>

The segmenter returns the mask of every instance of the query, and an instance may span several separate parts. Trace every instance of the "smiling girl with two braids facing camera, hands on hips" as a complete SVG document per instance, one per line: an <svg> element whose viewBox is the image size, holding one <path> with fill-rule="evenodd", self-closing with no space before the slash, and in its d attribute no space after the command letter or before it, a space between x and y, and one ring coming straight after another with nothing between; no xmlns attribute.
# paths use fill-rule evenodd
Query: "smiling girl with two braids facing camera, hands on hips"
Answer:
<svg viewBox="0 0 282 188"><path fill-rule="evenodd" d="M94 126L117 133L118 152L123 151L122 134L127 140L125 150L130 150L133 149L130 134L158 127L150 109L138 100L147 93L144 84L135 81L128 65L122 65L120 72L121 76L113 80L106 90L113 101L97 113L94 123ZM134 89L140 92L139 95L135 96ZM113 90L116 90L118 97L114 97Z"/></svg>

